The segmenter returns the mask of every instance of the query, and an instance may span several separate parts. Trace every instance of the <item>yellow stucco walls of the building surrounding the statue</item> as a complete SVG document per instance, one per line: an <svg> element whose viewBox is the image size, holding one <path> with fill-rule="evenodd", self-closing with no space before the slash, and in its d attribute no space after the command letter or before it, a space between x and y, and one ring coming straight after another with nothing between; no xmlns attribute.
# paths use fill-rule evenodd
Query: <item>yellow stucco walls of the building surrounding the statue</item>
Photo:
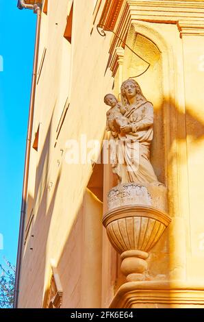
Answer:
<svg viewBox="0 0 204 322"><path fill-rule="evenodd" d="M146 68L125 48L123 63L112 77L107 62L114 36L109 32L99 36L96 26L105 0L93 25L95 2L74 1L71 43L64 38L64 30L72 1L48 1L48 12L42 13L32 142L38 126L40 130L38 151L31 149L26 223L31 214L34 219L23 249L18 307L47 305L51 266L58 267L63 308L108 307L125 282L120 258L101 224L105 199L103 205L86 188L91 175L97 180L97 170L91 164L67 162L68 140L84 145L83 134L87 140L102 143L107 110L104 95L113 91L118 96L121 80ZM149 256L151 281L162 285L165 280L173 288L197 290L202 288L204 277L204 2L193 1L192 5L190 1L175 1L170 13L168 8L160 16L157 7L151 6L154 1L136 2L145 4L145 10L131 0L123 1L118 19L123 20L127 3L131 19L124 18L120 36L124 36L123 25L131 20L126 42L151 63L137 81L154 105L151 162L161 182L168 186L172 217L170 227ZM184 2L192 8L181 9ZM201 26L197 27L195 21L199 19ZM105 166L103 196L112 185L112 173ZM125 300L118 299L123 295L118 294L116 302L125 305ZM199 297L203 299L200 293ZM183 305L189 307L189 301Z"/></svg>

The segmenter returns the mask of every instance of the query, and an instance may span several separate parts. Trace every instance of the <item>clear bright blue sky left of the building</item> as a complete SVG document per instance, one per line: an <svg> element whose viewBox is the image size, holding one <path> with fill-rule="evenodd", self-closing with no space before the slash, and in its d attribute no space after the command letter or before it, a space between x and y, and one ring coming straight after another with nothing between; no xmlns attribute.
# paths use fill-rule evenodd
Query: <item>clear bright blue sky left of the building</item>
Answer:
<svg viewBox="0 0 204 322"><path fill-rule="evenodd" d="M12 264L16 264L36 27L32 10L18 10L16 3L0 0L0 262L5 256Z"/></svg>

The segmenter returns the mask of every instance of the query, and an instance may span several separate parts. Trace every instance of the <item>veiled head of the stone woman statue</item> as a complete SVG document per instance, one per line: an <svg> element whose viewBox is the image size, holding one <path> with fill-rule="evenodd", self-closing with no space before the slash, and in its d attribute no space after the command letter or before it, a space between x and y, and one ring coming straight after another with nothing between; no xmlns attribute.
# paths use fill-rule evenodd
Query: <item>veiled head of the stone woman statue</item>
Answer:
<svg viewBox="0 0 204 322"><path fill-rule="evenodd" d="M146 98L142 94L140 85L134 79L130 78L125 80L125 82L123 82L123 84L121 85L120 89L123 98L123 103L125 103L125 105L129 103L129 97L136 96L137 101L146 101Z"/></svg>

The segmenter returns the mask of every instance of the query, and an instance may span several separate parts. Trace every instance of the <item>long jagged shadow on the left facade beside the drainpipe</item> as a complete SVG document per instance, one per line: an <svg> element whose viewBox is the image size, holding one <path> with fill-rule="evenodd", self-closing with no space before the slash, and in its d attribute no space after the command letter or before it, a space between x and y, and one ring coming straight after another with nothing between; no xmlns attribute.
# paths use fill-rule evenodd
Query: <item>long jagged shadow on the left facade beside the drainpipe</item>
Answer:
<svg viewBox="0 0 204 322"><path fill-rule="evenodd" d="M49 208L47 209L49 200L48 169L51 149L52 118L53 116L51 116L47 135L42 147L42 153L38 162L38 168L36 170L34 200L28 196L28 201L33 202L35 208L34 219L31 223L31 227L29 228L29 236L25 243L21 271L26 271L27 277L25 280L21 280L18 307L21 307L21 301L23 303L23 307L26 308L40 308L42 305L42 288L44 285L44 271L46 265L46 243L44 243L44 238L42 236L48 236L49 234L51 215L53 213L53 206L55 203L61 175L59 171L58 179L55 182L52 199ZM38 204L38 207L36 204ZM23 297L23 294L30 293L30 290L32 290L32 293L35 294L35 302L31 297L27 297L26 300Z"/></svg>

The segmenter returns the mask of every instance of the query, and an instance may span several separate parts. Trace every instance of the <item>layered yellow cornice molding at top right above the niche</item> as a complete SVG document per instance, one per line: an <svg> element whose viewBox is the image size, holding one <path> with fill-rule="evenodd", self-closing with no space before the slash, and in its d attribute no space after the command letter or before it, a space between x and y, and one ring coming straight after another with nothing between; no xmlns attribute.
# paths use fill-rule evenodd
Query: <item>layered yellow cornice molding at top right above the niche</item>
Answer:
<svg viewBox="0 0 204 322"><path fill-rule="evenodd" d="M124 47L132 21L174 24L181 37L203 36L204 1L107 0L99 26L115 33L110 47L113 75L116 74L116 48Z"/></svg>

